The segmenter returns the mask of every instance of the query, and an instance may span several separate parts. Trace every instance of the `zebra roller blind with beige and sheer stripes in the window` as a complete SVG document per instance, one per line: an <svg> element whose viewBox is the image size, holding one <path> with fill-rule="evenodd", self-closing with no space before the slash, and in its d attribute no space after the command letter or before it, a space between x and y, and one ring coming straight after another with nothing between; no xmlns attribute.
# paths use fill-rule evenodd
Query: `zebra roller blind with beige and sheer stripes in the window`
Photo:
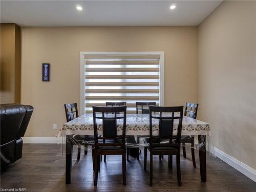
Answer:
<svg viewBox="0 0 256 192"><path fill-rule="evenodd" d="M158 56L86 56L85 110L92 105L126 101L127 113L136 113L136 101L159 105Z"/></svg>

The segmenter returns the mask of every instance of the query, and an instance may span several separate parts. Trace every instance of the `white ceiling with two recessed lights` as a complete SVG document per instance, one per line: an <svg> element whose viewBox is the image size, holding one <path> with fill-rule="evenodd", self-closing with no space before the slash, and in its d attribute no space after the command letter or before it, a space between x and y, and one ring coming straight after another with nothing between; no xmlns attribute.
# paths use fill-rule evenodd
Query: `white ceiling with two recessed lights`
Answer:
<svg viewBox="0 0 256 192"><path fill-rule="evenodd" d="M195 26L222 1L1 1L1 23L20 26ZM76 5L83 10L78 11ZM169 7L176 4L176 9Z"/></svg>

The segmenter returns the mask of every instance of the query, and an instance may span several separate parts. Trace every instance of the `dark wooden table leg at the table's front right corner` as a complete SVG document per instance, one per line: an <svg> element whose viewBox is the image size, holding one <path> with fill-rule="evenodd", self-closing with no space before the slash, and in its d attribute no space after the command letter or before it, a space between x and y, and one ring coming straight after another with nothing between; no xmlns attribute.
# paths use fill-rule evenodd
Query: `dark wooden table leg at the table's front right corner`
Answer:
<svg viewBox="0 0 256 192"><path fill-rule="evenodd" d="M205 135L198 136L198 143L202 144L199 148L200 176L201 181L206 182L206 137Z"/></svg>

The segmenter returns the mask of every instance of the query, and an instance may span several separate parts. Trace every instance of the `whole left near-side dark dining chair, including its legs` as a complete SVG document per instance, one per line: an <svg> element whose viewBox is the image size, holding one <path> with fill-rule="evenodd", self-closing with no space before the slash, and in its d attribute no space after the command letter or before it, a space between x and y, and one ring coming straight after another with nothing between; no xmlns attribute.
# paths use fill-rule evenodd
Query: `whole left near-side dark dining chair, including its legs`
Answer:
<svg viewBox="0 0 256 192"><path fill-rule="evenodd" d="M97 122L99 120L99 122ZM99 128L99 124L102 127ZM117 135L117 125L122 127L122 135ZM125 161L125 128L126 106L93 106L93 128L95 138L94 154L94 186L98 183L98 168L101 155L122 155L123 184L126 184ZM98 129L102 129L102 135L98 135ZM113 140L105 143L105 140Z"/></svg>

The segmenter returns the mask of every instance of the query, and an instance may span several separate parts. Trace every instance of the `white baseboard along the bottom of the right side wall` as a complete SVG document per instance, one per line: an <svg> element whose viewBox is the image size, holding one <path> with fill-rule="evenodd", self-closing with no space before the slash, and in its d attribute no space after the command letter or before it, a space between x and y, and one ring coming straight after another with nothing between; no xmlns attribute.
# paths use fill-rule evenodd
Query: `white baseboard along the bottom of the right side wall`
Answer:
<svg viewBox="0 0 256 192"><path fill-rule="evenodd" d="M239 172L256 182L256 170L214 147L215 155Z"/></svg>

